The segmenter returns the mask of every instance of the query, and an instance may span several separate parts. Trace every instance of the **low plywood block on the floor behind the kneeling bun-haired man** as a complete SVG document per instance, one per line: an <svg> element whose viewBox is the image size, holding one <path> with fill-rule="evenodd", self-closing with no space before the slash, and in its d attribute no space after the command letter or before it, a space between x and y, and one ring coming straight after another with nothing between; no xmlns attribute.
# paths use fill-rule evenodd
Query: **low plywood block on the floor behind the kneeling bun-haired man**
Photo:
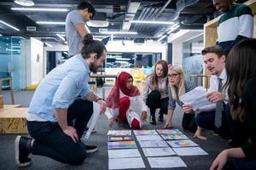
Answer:
<svg viewBox="0 0 256 170"><path fill-rule="evenodd" d="M0 109L0 133L27 133L27 108L21 105L3 105Z"/></svg>

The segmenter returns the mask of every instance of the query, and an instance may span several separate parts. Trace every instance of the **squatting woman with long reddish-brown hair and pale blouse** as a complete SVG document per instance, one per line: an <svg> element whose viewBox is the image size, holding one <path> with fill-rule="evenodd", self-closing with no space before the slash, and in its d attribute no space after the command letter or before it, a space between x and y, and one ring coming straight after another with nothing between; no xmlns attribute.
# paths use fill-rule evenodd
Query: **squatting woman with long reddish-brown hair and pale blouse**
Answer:
<svg viewBox="0 0 256 170"><path fill-rule="evenodd" d="M153 125L155 121L155 111L160 108L159 122L164 122L163 114L167 114L168 94L167 94L167 73L168 66L165 60L159 60L154 66L154 73L146 78L143 87L143 100L150 109L149 122Z"/></svg>

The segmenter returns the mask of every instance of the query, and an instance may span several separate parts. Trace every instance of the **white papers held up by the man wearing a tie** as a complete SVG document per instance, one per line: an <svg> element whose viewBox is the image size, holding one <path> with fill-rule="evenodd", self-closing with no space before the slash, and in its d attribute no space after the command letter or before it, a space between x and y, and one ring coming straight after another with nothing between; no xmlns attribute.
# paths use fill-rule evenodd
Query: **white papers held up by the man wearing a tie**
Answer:
<svg viewBox="0 0 256 170"><path fill-rule="evenodd" d="M210 102L207 99L207 90L203 87L197 87L189 91L186 94L183 94L179 99L184 104L192 105L194 111L212 111L216 108L216 104Z"/></svg>

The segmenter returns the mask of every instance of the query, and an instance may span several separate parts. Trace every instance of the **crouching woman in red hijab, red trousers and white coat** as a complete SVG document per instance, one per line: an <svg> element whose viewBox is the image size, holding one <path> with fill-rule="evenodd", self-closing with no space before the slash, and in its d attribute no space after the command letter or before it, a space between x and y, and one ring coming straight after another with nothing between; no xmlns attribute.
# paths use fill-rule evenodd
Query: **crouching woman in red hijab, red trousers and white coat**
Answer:
<svg viewBox="0 0 256 170"><path fill-rule="evenodd" d="M131 74L122 71L117 78L108 98L106 99L106 115L111 127L116 119L128 122L132 128L142 127L142 120L146 121L148 107L136 86L133 86Z"/></svg>

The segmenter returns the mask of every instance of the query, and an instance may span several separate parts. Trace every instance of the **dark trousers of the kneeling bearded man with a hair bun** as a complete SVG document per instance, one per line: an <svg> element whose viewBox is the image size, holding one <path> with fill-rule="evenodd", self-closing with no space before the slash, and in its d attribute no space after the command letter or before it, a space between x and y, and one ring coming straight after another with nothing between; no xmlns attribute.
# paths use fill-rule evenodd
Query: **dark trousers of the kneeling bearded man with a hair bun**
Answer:
<svg viewBox="0 0 256 170"><path fill-rule="evenodd" d="M90 116L93 105L90 101L77 99L67 110L67 122L73 126L81 139ZM79 165L83 163L86 151L85 145L73 142L71 137L63 133L57 122L27 122L27 129L33 139L32 154L48 156L55 161Z"/></svg>

